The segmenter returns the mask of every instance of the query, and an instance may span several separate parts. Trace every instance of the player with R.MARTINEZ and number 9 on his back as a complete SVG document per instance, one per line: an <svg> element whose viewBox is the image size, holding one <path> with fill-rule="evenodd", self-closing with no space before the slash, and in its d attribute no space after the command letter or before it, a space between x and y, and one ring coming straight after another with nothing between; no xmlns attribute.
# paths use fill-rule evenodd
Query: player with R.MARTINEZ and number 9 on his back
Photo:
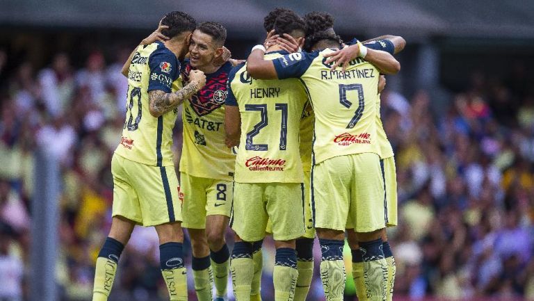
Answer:
<svg viewBox="0 0 534 301"><path fill-rule="evenodd" d="M371 285L369 299L383 300L387 263L380 236L386 221L375 104L379 74L394 74L400 64L391 54L358 43L360 57L350 62L347 71L330 70L332 63L325 63L325 54L339 49L341 40L332 28L333 18L323 22L328 22L326 30L307 37L312 52L264 60L264 51L255 49L247 72L255 79L299 78L314 107L312 213L323 253L321 278L327 300L343 300L342 249L348 216L364 250L367 275L378 279ZM394 48L387 40L375 46L391 53Z"/></svg>

